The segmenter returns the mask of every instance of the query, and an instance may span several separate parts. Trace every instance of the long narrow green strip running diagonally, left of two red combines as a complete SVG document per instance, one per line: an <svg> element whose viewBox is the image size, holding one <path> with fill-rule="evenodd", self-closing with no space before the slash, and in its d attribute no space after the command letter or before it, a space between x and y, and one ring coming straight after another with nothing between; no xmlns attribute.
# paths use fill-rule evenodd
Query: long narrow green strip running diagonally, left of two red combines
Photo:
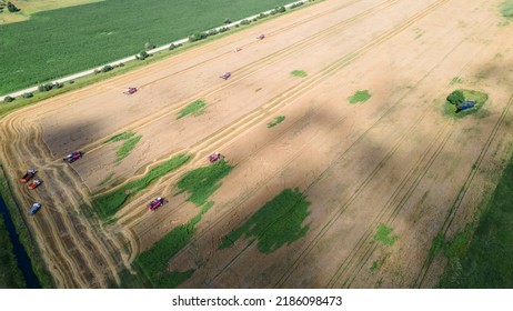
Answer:
<svg viewBox="0 0 513 311"><path fill-rule="evenodd" d="M100 218L102 218L103 220L109 220L109 218L112 218L129 198L135 195L138 192L145 189L150 183L152 183L157 179L180 168L187 161L189 161L189 159L190 156L188 154L177 156L152 168L144 177L134 181L130 181L129 183L122 185L121 188L114 191L97 197L93 200L95 212L98 212Z"/></svg>

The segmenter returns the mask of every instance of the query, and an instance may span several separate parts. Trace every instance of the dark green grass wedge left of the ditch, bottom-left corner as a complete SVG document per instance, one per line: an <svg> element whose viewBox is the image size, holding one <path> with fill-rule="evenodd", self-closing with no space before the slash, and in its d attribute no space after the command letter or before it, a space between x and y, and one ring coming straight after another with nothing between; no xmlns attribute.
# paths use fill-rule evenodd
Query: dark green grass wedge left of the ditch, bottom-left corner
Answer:
<svg viewBox="0 0 513 311"><path fill-rule="evenodd" d="M0 289L26 288L23 274L18 268L9 232L0 214Z"/></svg>

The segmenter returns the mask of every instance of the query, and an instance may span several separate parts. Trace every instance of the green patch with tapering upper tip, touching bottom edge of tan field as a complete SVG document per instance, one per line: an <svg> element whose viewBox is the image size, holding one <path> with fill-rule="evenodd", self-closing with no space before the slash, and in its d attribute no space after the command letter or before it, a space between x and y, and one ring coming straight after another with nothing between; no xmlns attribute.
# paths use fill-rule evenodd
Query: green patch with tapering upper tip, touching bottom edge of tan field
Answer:
<svg viewBox="0 0 513 311"><path fill-rule="evenodd" d="M185 224L179 225L160 239L148 251L135 258L134 263L144 272L154 288L174 288L189 279L194 270L168 272L168 262L183 249L195 233L195 225L201 221L213 202L207 202L199 214Z"/></svg>

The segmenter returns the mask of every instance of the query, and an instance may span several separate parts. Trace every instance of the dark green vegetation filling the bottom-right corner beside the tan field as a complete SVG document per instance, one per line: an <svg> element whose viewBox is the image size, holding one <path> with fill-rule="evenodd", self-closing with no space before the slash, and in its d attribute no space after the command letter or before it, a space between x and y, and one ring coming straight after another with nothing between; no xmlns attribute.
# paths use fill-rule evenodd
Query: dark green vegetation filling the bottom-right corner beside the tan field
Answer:
<svg viewBox="0 0 513 311"><path fill-rule="evenodd" d="M482 214L452 240L446 241L443 234L435 239L433 248L447 259L441 288L513 288L512 193L513 158L490 200L483 202Z"/></svg>

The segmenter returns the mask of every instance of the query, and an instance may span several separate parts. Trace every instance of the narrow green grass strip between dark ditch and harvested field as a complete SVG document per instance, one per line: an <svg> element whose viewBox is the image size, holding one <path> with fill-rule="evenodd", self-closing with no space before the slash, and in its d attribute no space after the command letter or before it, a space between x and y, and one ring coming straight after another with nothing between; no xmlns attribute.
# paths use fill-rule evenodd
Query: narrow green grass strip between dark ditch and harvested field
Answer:
<svg viewBox="0 0 513 311"><path fill-rule="evenodd" d="M27 254L30 258L32 263L33 272L36 273L41 288L50 289L54 288L53 280L44 267L43 260L39 253L38 248L33 243L33 239L30 235L29 230L22 219L20 213L21 209L18 207L17 202L11 195L9 190L9 182L6 174L3 173L3 168L0 163L0 195L3 198L3 201L11 214L12 222L14 223L18 232L20 242L23 244ZM2 244L3 245L3 244Z"/></svg>

